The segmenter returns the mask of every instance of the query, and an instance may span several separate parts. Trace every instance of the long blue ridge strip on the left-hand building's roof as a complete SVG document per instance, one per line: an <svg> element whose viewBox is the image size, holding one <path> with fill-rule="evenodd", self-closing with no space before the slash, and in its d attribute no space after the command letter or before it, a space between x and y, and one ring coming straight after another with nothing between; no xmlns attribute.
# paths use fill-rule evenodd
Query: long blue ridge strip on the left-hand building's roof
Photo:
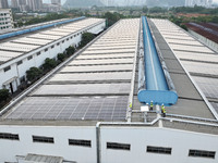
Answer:
<svg viewBox="0 0 218 163"><path fill-rule="evenodd" d="M43 25L43 26L32 27L32 28L23 29L23 30L19 30L19 32L12 32L12 33L0 35L0 39L5 39L5 38L23 35L23 34L27 34L27 33L32 33L32 32L36 32L36 30L41 30L41 29L45 29L45 28L49 28L49 27L53 27L53 26L57 26L57 25L80 21L80 20L83 20L83 18L85 18L85 16L76 17L76 18L72 18L72 20L66 20L66 21L62 21L62 22L58 22L58 23L51 23L51 24L47 24L47 25Z"/></svg>

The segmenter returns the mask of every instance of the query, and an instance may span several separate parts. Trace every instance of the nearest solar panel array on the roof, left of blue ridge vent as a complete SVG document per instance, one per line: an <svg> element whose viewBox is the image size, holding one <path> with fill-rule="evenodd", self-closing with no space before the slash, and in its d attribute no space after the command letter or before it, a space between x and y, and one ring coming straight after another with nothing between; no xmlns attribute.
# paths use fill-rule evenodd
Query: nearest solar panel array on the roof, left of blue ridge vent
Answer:
<svg viewBox="0 0 218 163"><path fill-rule="evenodd" d="M129 97L31 97L7 118L124 121L128 99Z"/></svg>

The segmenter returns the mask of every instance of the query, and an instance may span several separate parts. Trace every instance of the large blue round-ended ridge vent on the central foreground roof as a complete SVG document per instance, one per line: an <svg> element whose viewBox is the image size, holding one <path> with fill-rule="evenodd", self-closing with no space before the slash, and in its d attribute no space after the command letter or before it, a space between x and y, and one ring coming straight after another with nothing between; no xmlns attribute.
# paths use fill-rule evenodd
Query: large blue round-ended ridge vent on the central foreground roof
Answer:
<svg viewBox="0 0 218 163"><path fill-rule="evenodd" d="M172 79L164 59L157 52L147 18L143 16L142 21L143 39L141 39L138 63L138 100L143 103L153 101L154 104L175 104L178 95Z"/></svg>

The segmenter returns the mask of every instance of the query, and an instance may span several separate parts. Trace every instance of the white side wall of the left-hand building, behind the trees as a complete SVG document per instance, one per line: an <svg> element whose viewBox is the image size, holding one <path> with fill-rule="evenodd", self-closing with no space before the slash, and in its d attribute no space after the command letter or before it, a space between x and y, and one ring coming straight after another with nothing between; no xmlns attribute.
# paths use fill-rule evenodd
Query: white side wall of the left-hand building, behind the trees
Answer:
<svg viewBox="0 0 218 163"><path fill-rule="evenodd" d="M101 30L104 30L105 25L106 25L105 22L102 22L98 25L89 27L90 29L88 29L88 32L93 33L93 34L98 34ZM84 32L85 30L86 29L84 29ZM76 46L77 47L78 43L81 42L82 35L81 35L81 32L75 33L75 34L76 34L76 36L73 37L72 39L71 39L71 36L68 37L69 40L66 40L66 38L65 38L64 42L62 42L63 39L60 39L58 41L53 41L50 45L47 45L43 48L39 48L35 51L26 53L25 55L22 55L17 59L10 61L10 62L7 62L5 64L0 65L0 78L1 78L0 79L0 89L3 88L2 87L3 83L13 78L14 76L17 76L17 79L16 79L16 82L14 82L14 84L17 83L17 85L20 85L20 78L26 75L26 71L29 70L32 66L39 67L40 65L44 64L46 58L50 58L50 59L56 58L58 53L62 53L70 46ZM60 42L59 46L57 46L58 42ZM51 48L51 46L55 46L55 47ZM48 48L48 51L45 51L46 48ZM40 52L40 55L37 55L37 52ZM32 60L27 60L27 57L29 57L29 55L33 55ZM21 60L23 61L23 63L17 65L17 68L16 68L16 62L19 62ZM4 73L3 68L9 66L9 65L11 66L11 70ZM7 86L7 88L9 86ZM14 85L14 91L16 89L17 89L17 86Z"/></svg>

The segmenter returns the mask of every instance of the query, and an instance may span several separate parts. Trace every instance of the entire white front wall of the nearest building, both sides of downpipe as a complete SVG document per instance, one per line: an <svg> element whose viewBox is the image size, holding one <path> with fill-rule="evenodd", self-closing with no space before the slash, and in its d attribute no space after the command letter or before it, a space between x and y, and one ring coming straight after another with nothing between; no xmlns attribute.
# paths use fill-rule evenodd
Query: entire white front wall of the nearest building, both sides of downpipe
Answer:
<svg viewBox="0 0 218 163"><path fill-rule="evenodd" d="M14 162L27 153L63 156L77 163L96 163L96 128L61 126L0 126L0 133L20 135L20 141L0 139L0 162ZM32 136L55 137L55 143L33 142ZM69 146L68 139L92 140L92 148ZM101 163L217 163L217 136L156 127L101 127ZM111 150L107 142L130 143L131 151ZM170 147L172 154L147 153L147 146ZM13 148L12 148L13 147ZM216 151L216 159L191 158L190 149Z"/></svg>

